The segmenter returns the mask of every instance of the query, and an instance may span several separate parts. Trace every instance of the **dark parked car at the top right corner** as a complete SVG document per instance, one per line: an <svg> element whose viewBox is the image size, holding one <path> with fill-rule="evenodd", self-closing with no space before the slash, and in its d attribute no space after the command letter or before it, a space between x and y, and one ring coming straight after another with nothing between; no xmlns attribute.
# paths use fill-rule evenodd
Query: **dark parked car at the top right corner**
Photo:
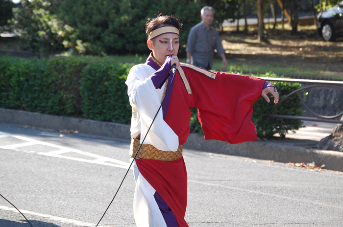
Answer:
<svg viewBox="0 0 343 227"><path fill-rule="evenodd" d="M343 1L318 14L318 34L325 41L343 36Z"/></svg>

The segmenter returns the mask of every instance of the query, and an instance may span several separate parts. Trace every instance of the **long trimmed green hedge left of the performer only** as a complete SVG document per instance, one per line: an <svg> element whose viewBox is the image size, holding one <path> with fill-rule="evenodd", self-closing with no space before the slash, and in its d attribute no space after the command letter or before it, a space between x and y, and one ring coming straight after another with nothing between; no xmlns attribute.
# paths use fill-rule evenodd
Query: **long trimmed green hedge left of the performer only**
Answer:
<svg viewBox="0 0 343 227"><path fill-rule="evenodd" d="M131 67L107 57L0 57L0 107L128 124Z"/></svg>

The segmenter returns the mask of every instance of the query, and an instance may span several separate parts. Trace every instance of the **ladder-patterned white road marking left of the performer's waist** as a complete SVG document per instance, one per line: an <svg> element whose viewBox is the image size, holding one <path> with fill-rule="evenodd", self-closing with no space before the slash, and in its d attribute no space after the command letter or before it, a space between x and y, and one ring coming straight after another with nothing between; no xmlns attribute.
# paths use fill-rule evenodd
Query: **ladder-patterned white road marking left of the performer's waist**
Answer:
<svg viewBox="0 0 343 227"><path fill-rule="evenodd" d="M9 133L0 132L0 137L1 138L13 137L13 138L17 138L17 139L27 141L24 143L0 146L0 148L2 148L2 149L15 150L16 148L19 148L19 147L25 147L25 146L40 144L40 145L45 145L45 146L56 148L56 150L51 151L51 152L37 152L38 155L45 155L45 156L55 157L55 158L63 158L63 159L69 159L69 160L74 160L74 161L83 161L83 162L100 164L100 165L108 165L108 166L124 168L124 169L127 169L130 166L130 163L128 163L128 162L120 161L117 159L111 159L111 158L99 156L96 154L92 154L90 152L84 152L84 151L80 151L80 150L73 149L73 148L63 147L63 146L55 145L52 143L47 143L47 142L27 138L24 136L17 136L17 135L13 135L13 134L9 134ZM93 160L82 159L82 158L74 158L74 157L64 155L65 153L70 153L70 152L73 152L73 153L76 153L79 155L83 155L83 156L91 157L91 158L93 158Z"/></svg>

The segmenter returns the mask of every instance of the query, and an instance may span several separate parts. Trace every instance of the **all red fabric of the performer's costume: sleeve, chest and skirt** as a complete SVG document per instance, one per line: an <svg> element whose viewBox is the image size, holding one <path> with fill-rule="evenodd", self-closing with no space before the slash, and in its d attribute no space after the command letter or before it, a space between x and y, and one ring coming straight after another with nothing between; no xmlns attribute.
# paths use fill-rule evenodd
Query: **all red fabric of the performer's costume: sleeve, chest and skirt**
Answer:
<svg viewBox="0 0 343 227"><path fill-rule="evenodd" d="M257 139L251 121L252 103L260 98L264 80L222 72L216 72L216 78L212 79L192 68L182 69L192 93L188 94L177 72L164 119L179 137L179 145L184 144L189 135L190 107L197 108L205 139L233 144ZM171 208L179 227L188 227L184 220L187 173L183 158L175 161L139 159L136 163L144 178Z"/></svg>

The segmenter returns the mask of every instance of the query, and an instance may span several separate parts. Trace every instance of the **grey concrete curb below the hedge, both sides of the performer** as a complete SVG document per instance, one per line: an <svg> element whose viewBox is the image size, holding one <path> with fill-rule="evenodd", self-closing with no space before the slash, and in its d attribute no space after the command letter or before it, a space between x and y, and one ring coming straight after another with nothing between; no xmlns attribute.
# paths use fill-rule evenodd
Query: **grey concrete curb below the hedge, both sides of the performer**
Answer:
<svg viewBox="0 0 343 227"><path fill-rule="evenodd" d="M52 130L72 129L81 134L130 140L130 126L84 118L38 114L0 108L0 123L29 125ZM275 141L252 141L229 144L218 140L205 140L203 135L191 133L185 149L241 156L277 162L315 162L325 169L343 172L343 152L326 151L282 144Z"/></svg>

